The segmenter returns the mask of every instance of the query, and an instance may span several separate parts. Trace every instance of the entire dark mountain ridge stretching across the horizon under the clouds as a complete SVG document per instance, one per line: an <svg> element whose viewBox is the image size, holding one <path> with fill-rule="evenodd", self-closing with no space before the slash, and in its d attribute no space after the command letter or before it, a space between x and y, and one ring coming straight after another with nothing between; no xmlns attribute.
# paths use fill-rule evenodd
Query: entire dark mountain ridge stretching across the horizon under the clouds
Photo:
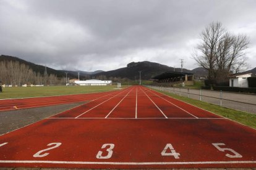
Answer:
<svg viewBox="0 0 256 170"><path fill-rule="evenodd" d="M28 65L33 71L40 72L41 75L43 75L45 71L45 66L42 65L36 65L32 62L27 62L26 60L19 59L18 57L12 57L9 55L0 55L0 62L3 60L7 61L18 61L20 63L24 63ZM80 79L95 79L100 78L102 76L105 76L105 78L128 78L131 80L139 79L139 71L141 71L141 79L151 79L153 76L160 75L161 73L164 73L166 71L181 71L181 68L173 68L169 67L168 65L163 65L160 63L155 62L130 62L127 64L127 67L123 68L117 68L116 70L110 70L110 71L102 71L102 70L96 70L96 71L70 71L70 70L54 70L53 68L47 68L48 74L54 74L57 75L59 78L66 77L69 78L78 78L78 72ZM203 68L195 68L193 70L187 70L186 68L183 68L183 72L188 73L196 73L200 76L207 75L207 71L202 71ZM206 73L206 74L205 74Z"/></svg>

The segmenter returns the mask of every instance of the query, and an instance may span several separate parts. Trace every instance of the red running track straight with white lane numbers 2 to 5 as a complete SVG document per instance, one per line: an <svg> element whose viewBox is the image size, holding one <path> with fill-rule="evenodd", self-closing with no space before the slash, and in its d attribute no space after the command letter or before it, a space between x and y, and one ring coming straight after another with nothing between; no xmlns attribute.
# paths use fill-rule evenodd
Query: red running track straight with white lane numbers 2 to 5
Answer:
<svg viewBox="0 0 256 170"><path fill-rule="evenodd" d="M256 167L255 129L142 86L81 97L92 101L0 136L0 167Z"/></svg>

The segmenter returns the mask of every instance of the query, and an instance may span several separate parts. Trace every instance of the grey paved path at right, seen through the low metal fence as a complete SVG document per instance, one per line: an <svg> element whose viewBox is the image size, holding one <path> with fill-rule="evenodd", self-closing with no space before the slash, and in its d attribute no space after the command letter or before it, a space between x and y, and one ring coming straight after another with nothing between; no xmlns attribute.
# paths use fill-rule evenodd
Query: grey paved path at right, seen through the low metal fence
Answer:
<svg viewBox="0 0 256 170"><path fill-rule="evenodd" d="M234 108L256 114L256 95L180 87L148 86L164 92L188 97L190 99L213 103L222 107Z"/></svg>

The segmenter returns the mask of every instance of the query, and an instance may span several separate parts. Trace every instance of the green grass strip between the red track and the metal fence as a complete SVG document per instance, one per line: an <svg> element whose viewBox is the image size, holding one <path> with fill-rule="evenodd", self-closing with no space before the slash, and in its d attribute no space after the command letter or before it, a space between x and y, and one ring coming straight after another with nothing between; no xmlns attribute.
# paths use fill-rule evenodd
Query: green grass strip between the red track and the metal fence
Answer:
<svg viewBox="0 0 256 170"><path fill-rule="evenodd" d="M203 108L205 110L211 111L216 115L223 116L225 118L232 119L238 123L245 124L246 126L250 126L256 129L256 115L247 113L245 111L234 110L231 108L220 107L218 105L213 105L207 102L200 102L199 100L189 99L187 97L182 97L176 94L171 94L169 92L163 92L156 89L154 91L161 92L162 94L169 95L174 99L182 100L183 102L190 103L196 107Z"/></svg>

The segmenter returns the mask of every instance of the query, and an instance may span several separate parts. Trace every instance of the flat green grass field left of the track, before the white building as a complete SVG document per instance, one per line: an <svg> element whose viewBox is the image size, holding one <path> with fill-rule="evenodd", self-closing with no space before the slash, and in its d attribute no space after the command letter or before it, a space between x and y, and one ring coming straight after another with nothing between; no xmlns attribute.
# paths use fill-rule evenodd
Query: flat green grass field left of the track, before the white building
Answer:
<svg viewBox="0 0 256 170"><path fill-rule="evenodd" d="M113 91L114 88L116 86L5 87L3 92L0 93L0 99L106 92Z"/></svg>

